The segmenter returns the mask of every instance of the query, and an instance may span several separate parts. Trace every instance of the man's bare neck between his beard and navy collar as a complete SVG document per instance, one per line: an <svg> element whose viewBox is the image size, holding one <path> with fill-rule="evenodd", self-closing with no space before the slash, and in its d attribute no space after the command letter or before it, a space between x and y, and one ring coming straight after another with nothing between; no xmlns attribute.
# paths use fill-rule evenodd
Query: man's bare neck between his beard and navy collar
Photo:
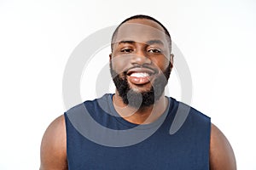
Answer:
<svg viewBox="0 0 256 170"><path fill-rule="evenodd" d="M115 110L126 121L135 124L148 124L156 121L165 111L168 105L168 99L164 94L157 100L154 105L143 108L134 108L125 105L118 94L113 95L113 106Z"/></svg>

